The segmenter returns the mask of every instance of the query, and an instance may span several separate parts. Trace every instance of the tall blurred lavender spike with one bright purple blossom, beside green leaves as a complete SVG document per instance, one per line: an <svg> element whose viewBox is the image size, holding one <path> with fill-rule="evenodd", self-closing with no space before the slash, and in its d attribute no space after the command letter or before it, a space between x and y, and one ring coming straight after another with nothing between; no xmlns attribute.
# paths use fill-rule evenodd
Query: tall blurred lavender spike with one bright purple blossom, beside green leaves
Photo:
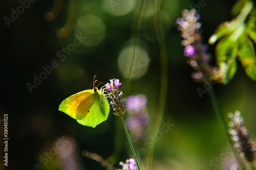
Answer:
<svg viewBox="0 0 256 170"><path fill-rule="evenodd" d="M185 46L184 55L189 57L187 63L196 71L191 75L195 81L204 82L210 78L217 80L219 69L208 64L211 56L206 53L207 45L202 43L199 18L197 11L191 9L183 10L182 18L177 19L178 29L183 37L181 44Z"/></svg>

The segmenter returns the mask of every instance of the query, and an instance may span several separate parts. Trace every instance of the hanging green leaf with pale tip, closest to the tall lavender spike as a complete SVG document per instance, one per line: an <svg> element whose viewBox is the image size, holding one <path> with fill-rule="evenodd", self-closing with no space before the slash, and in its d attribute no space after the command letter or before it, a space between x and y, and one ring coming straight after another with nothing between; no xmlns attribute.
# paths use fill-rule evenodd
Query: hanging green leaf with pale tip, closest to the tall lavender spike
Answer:
<svg viewBox="0 0 256 170"><path fill-rule="evenodd" d="M233 42L231 35L223 37L216 46L216 61L220 67L222 82L228 84L237 71L238 43Z"/></svg>

